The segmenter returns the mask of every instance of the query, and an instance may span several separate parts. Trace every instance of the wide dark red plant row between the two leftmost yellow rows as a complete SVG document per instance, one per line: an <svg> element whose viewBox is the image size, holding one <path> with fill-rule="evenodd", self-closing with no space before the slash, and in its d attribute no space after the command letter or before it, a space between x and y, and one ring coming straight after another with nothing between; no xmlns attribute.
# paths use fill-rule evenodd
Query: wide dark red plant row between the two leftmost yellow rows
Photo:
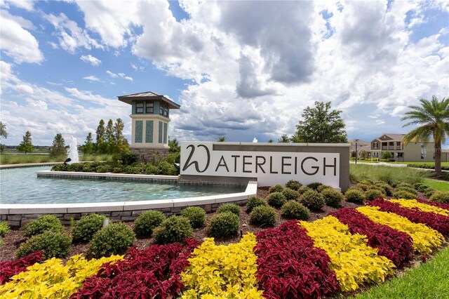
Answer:
<svg viewBox="0 0 449 299"><path fill-rule="evenodd" d="M199 241L130 248L126 259L106 265L89 277L71 298L177 298L181 272Z"/></svg>

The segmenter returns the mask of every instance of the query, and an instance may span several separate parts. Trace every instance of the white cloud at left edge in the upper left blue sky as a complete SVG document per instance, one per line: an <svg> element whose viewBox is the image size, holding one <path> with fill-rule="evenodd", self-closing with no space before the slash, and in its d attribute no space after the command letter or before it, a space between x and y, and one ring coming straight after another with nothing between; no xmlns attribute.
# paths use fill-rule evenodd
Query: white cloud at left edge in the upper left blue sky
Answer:
<svg viewBox="0 0 449 299"><path fill-rule="evenodd" d="M39 50L39 42L29 31L22 28L18 19L2 18L0 35L1 51L13 58L14 62L42 62L43 54Z"/></svg>

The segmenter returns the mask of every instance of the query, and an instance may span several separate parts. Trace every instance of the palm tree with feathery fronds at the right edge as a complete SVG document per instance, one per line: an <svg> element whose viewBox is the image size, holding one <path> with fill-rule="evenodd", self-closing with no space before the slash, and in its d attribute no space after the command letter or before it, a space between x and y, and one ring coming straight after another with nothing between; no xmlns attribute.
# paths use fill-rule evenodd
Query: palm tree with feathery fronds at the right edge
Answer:
<svg viewBox="0 0 449 299"><path fill-rule="evenodd" d="M420 99L421 106L409 106L412 111L406 112L402 120L410 120L404 126L420 124L421 126L408 132L403 143L422 141L427 142L431 136L435 142L435 171L441 174L441 142L445 142L446 134L449 134L449 98L438 101L436 96L432 100Z"/></svg>

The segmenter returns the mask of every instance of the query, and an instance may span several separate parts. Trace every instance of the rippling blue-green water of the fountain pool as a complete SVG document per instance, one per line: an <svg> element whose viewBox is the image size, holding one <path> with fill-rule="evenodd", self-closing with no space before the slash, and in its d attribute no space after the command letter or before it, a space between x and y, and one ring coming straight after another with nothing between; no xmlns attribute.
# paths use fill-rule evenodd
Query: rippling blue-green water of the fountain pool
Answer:
<svg viewBox="0 0 449 299"><path fill-rule="evenodd" d="M37 178L51 166L0 170L0 204L67 204L203 197L244 192L244 186L178 185L176 182Z"/></svg>

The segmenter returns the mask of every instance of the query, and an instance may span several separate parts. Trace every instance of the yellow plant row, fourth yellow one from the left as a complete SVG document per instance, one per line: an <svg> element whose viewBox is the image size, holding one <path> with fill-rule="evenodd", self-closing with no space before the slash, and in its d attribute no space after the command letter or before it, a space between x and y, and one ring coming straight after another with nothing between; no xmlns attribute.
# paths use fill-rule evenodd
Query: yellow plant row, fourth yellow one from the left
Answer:
<svg viewBox="0 0 449 299"><path fill-rule="evenodd" d="M371 201L373 203L373 201ZM431 253L434 248L438 248L444 241L442 234L436 230L427 227L422 223L415 223L408 220L406 217L397 215L396 213L387 213L379 211L377 206L362 206L357 208L357 211L368 216L370 220L410 234L413 239L413 248L420 254ZM411 211L411 210L410 210ZM417 212L423 213L423 212Z"/></svg>

